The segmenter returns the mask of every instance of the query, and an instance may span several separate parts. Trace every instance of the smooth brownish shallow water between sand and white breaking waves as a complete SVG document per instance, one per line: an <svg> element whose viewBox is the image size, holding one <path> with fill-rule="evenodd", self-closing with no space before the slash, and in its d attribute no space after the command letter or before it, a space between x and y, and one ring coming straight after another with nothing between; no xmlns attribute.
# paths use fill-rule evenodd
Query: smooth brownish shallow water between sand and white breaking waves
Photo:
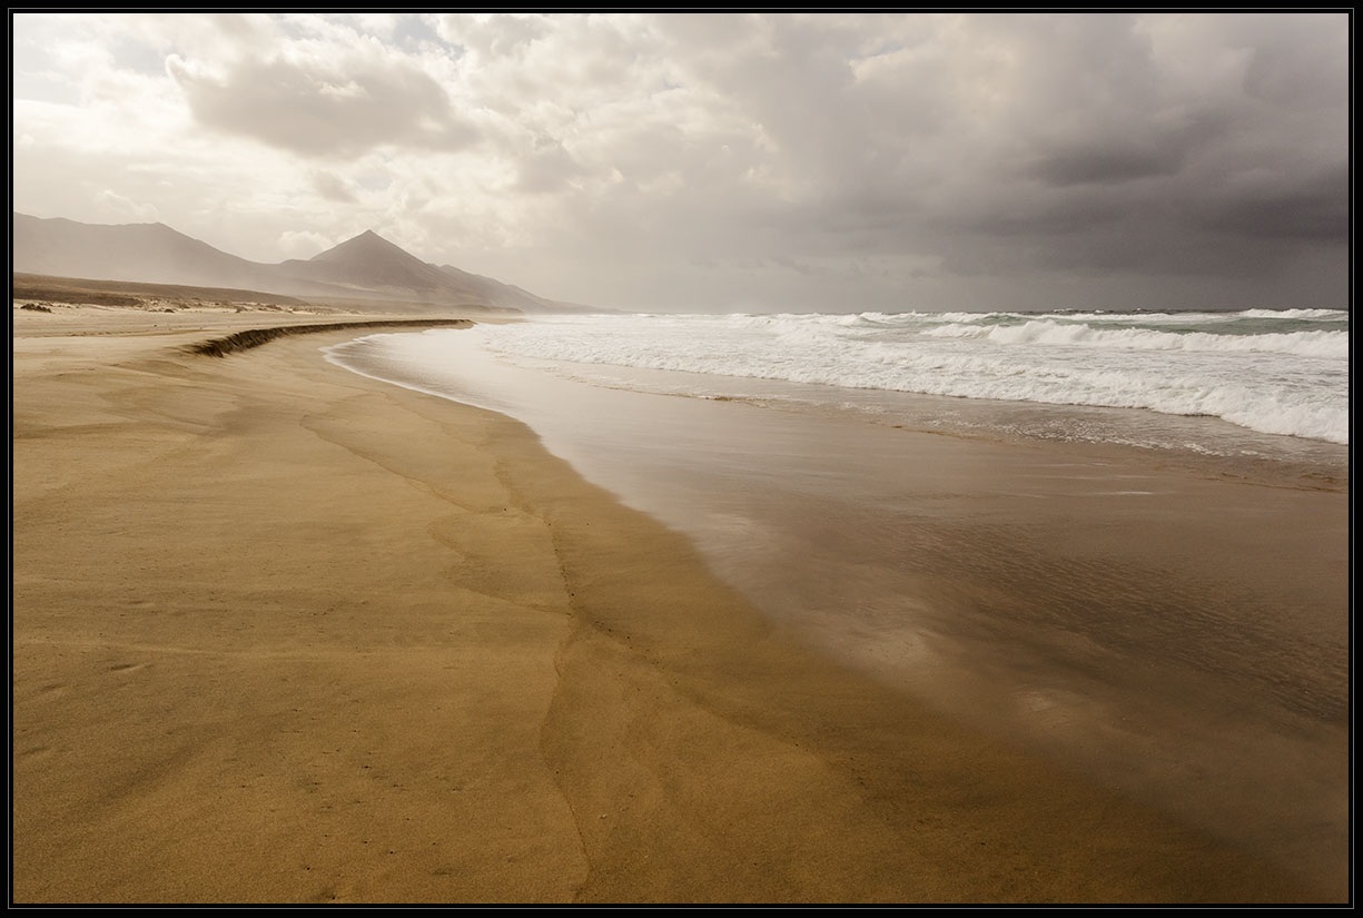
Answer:
<svg viewBox="0 0 1363 918"><path fill-rule="evenodd" d="M481 345L372 336L328 357L518 417L808 642L1345 888L1347 447L771 381L658 394L694 374Z"/></svg>

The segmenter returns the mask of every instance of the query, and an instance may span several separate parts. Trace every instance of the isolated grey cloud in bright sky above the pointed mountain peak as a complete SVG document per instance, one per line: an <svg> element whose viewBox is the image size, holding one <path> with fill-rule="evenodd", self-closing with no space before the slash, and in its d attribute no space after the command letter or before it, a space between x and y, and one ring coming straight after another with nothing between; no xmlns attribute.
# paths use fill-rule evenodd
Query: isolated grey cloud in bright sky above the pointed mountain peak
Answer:
<svg viewBox="0 0 1363 918"><path fill-rule="evenodd" d="M305 157L384 145L458 150L477 139L440 85L401 59L240 60L217 76L172 56L166 68L202 124Z"/></svg>

